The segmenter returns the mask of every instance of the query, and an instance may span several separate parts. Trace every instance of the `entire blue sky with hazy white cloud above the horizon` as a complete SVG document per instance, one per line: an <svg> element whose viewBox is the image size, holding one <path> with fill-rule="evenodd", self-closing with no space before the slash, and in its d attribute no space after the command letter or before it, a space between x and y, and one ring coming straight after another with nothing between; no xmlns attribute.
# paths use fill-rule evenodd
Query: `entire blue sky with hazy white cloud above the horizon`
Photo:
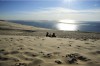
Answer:
<svg viewBox="0 0 100 66"><path fill-rule="evenodd" d="M100 21L100 0L0 0L0 19Z"/></svg>

